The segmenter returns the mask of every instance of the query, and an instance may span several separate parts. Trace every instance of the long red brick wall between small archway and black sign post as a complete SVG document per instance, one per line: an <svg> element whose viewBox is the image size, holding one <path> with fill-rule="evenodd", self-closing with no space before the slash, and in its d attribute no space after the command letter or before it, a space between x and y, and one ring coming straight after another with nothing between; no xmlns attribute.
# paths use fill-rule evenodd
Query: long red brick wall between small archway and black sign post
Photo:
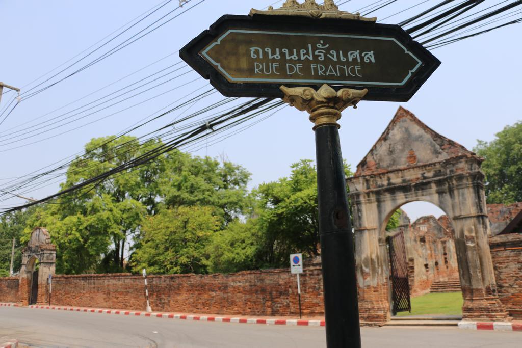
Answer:
<svg viewBox="0 0 522 348"><path fill-rule="evenodd" d="M295 316L299 302L295 275L288 269L231 274L150 275L152 310L185 313ZM52 303L69 306L145 310L141 275L56 275ZM323 315L321 268L301 275L303 315Z"/></svg>

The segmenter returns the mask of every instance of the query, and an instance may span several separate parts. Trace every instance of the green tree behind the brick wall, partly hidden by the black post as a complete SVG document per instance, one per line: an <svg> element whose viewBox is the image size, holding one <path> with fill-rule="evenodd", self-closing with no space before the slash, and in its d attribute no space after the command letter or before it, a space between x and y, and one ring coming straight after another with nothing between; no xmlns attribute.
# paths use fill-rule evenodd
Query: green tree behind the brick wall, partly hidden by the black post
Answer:
<svg viewBox="0 0 522 348"><path fill-rule="evenodd" d="M345 174L352 175L346 164ZM235 221L213 236L210 271L286 267L290 253L320 254L317 174L311 160L292 164L289 177L261 184L253 195L255 206L247 221ZM398 214L392 215L389 228L398 224Z"/></svg>

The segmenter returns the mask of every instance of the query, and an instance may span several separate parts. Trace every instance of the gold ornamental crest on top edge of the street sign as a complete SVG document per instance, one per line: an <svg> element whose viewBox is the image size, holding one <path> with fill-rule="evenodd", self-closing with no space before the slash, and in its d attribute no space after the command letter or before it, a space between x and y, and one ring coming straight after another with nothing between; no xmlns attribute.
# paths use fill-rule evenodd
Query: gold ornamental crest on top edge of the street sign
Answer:
<svg viewBox="0 0 522 348"><path fill-rule="evenodd" d="M250 10L250 16L254 15L283 15L283 16L304 16L312 18L338 18L349 20L360 20L364 22L375 22L376 17L365 18L361 17L359 13L352 14L345 11L340 11L334 0L325 0L323 5L319 5L315 0L305 0L300 4L297 0L286 0L281 8L274 9L268 7L268 10Z"/></svg>

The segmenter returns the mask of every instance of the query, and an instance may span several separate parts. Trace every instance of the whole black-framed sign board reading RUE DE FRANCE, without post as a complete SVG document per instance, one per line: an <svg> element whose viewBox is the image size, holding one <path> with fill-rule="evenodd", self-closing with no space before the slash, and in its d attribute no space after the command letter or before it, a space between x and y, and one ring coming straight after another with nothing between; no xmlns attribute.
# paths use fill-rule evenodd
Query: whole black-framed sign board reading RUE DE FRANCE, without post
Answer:
<svg viewBox="0 0 522 348"><path fill-rule="evenodd" d="M218 19L180 56L228 97L282 97L281 85L367 88L407 101L440 65L397 25L299 16Z"/></svg>

